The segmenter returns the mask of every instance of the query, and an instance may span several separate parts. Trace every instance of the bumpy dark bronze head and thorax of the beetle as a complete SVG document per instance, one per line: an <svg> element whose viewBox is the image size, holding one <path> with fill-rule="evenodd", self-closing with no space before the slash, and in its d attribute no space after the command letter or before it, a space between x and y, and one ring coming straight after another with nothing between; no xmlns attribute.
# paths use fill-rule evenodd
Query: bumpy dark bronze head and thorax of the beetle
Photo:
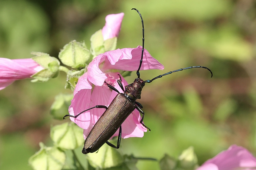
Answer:
<svg viewBox="0 0 256 170"><path fill-rule="evenodd" d="M142 79L136 78L133 83L125 86L124 93L131 97L133 100L140 99L140 94L144 85L145 82Z"/></svg>

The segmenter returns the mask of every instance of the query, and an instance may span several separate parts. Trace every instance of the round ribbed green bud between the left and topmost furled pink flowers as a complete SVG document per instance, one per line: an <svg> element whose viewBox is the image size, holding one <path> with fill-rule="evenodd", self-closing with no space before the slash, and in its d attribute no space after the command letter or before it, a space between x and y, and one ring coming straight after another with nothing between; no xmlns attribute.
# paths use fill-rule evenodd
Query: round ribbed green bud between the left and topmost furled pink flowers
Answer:
<svg viewBox="0 0 256 170"><path fill-rule="evenodd" d="M72 68L85 67L86 61L90 58L90 51L87 49L85 43L70 41L66 44L59 53L61 62Z"/></svg>

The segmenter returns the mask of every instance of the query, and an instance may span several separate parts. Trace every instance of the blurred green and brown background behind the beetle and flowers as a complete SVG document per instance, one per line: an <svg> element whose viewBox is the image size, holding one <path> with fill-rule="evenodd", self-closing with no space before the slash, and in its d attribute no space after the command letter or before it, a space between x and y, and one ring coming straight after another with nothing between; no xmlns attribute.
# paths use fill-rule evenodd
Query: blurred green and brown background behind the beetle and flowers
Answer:
<svg viewBox="0 0 256 170"><path fill-rule="evenodd" d="M143 138L123 139L120 152L135 157L177 157L194 146L199 164L232 144L256 154L256 1L254 0L19 0L0 1L0 57L30 58L32 51L58 56L71 40L83 41L124 12L118 48L141 45L164 66L141 71L151 79L192 65L210 68L174 73L146 84ZM131 83L136 74L127 77ZM65 74L45 83L19 80L0 91L0 169L31 169L39 142L51 145L49 113L65 90ZM140 170L159 169L139 161Z"/></svg>

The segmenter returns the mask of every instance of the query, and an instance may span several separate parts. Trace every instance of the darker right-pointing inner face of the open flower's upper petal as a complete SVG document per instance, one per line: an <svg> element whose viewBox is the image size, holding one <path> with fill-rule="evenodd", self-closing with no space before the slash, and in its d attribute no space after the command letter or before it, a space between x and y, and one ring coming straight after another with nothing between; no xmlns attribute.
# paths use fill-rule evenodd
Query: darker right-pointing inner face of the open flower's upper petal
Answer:
<svg viewBox="0 0 256 170"><path fill-rule="evenodd" d="M133 49L126 48L125 50L123 49L121 50L123 55L126 55L126 56L132 55L132 58L128 58L128 57L122 58L114 64L111 62L105 61L104 69L105 70L117 69L117 70L126 70L126 71L138 70L139 61L141 59L142 46L138 46L137 48L133 48ZM155 58L153 58L146 49L144 49L143 60L142 60L142 65L140 70L149 70L149 69L163 70L164 66L161 63L159 63Z"/></svg>

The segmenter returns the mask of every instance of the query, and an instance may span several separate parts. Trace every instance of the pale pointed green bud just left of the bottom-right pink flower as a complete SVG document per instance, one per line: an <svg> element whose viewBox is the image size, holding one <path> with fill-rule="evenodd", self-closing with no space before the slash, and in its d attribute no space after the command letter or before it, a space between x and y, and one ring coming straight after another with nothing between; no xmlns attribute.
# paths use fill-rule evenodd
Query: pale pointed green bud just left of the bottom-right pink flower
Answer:
<svg viewBox="0 0 256 170"><path fill-rule="evenodd" d="M197 157L192 146L182 151L179 156L179 162L180 167L184 169L192 170L197 166Z"/></svg>

